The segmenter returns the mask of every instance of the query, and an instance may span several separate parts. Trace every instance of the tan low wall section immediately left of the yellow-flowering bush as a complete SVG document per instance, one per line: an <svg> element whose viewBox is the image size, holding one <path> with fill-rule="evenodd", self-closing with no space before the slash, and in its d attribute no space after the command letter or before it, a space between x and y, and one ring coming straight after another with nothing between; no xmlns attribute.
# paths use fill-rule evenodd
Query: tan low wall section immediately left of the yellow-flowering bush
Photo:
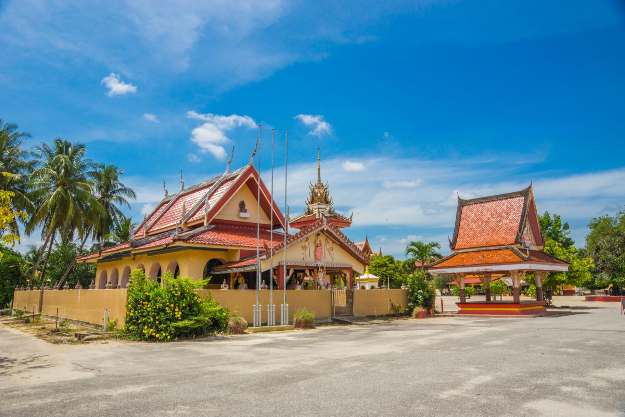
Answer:
<svg viewBox="0 0 625 417"><path fill-rule="evenodd" d="M102 326L104 308L109 311L109 321L118 319L124 326L128 289L48 289L43 292L41 313Z"/></svg>

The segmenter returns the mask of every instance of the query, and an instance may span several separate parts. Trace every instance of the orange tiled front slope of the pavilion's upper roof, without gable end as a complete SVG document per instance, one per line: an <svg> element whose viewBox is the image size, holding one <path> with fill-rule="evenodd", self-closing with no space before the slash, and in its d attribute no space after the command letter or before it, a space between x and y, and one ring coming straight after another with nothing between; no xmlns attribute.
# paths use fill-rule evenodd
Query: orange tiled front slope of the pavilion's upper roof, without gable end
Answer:
<svg viewBox="0 0 625 417"><path fill-rule="evenodd" d="M517 196L461 206L454 249L514 244L524 202Z"/></svg>

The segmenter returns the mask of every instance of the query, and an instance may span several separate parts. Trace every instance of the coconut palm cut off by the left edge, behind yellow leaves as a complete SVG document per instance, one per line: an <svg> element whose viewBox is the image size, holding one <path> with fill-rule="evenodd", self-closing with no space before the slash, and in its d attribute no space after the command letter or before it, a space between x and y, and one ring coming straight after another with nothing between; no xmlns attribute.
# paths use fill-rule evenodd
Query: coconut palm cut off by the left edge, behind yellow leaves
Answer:
<svg viewBox="0 0 625 417"><path fill-rule="evenodd" d="M36 164L36 153L24 146L29 138L31 134L17 131L17 124L2 123L0 119L0 188L14 194L11 201L13 209L32 214L34 204L28 184ZM19 236L17 221L11 224L11 229Z"/></svg>

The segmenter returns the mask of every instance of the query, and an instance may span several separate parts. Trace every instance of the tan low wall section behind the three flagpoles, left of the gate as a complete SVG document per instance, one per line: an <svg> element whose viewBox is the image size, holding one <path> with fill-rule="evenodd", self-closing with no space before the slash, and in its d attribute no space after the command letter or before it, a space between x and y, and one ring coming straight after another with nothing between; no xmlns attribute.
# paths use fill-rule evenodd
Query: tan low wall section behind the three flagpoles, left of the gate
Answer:
<svg viewBox="0 0 625 417"><path fill-rule="evenodd" d="M239 316L247 320L247 323L254 321L254 309L256 304L256 290L254 289L228 289L212 290L212 298L230 311L239 311ZM209 290L199 291L204 297ZM276 323L280 321L280 304L284 297L284 290L274 289L274 305L276 306ZM332 291L287 289L286 303L289 304L289 321L292 321L293 314L297 309L306 307L316 318L332 316ZM267 321L267 304L269 304L269 290L259 291L259 304L262 306L262 321Z"/></svg>

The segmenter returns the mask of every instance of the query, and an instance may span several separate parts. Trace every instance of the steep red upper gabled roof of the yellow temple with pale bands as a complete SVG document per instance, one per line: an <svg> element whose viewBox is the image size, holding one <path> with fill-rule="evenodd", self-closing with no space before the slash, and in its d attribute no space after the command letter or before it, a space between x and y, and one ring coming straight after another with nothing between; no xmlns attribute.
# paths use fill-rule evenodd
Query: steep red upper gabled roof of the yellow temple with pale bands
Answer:
<svg viewBox="0 0 625 417"><path fill-rule="evenodd" d="M248 188L255 190L257 189L258 181L258 171L256 171L253 164L249 164L232 173L226 172L202 183L184 188L177 194L166 196L153 212L139 224L135 231L135 236L143 236L144 229L147 230L148 235L173 230L177 224L191 224L204 219L205 215L208 223L210 223L219 214L219 210L226 204L227 200L239 188L247 184ZM260 179L260 184L261 208L265 213L270 213L271 196L269 190L267 190L262 179ZM252 194L256 196L256 193L252 192ZM205 209L206 202L208 202L207 210ZM275 201L273 210L274 228L283 228L284 216Z"/></svg>

